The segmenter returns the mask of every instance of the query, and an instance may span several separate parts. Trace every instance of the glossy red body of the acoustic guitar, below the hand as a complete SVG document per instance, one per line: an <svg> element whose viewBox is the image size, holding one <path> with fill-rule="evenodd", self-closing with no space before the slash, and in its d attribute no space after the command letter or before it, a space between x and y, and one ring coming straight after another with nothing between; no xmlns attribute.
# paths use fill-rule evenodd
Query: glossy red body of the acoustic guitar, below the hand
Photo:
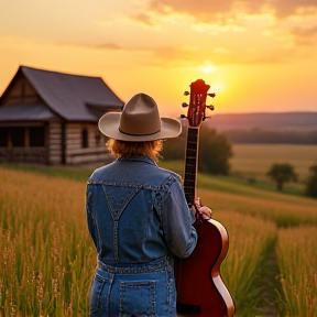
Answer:
<svg viewBox="0 0 317 317"><path fill-rule="evenodd" d="M194 252L175 259L177 316L231 317L234 305L220 276L229 248L227 230L214 219L194 226L198 233Z"/></svg>

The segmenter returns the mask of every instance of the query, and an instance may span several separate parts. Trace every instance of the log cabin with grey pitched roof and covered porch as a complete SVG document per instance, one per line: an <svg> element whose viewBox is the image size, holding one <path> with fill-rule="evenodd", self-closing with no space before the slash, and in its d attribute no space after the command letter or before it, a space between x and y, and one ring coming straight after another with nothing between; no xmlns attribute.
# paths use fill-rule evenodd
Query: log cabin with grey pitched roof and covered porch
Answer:
<svg viewBox="0 0 317 317"><path fill-rule="evenodd" d="M103 162L97 122L123 105L100 77L20 66L0 97L0 162Z"/></svg>

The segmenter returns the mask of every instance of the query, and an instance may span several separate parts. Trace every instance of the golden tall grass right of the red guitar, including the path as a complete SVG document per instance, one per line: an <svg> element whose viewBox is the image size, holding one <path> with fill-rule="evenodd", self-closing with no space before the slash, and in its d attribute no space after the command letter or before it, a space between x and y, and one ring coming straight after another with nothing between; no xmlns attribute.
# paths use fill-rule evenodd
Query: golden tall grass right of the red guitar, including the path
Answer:
<svg viewBox="0 0 317 317"><path fill-rule="evenodd" d="M222 272L237 304L237 316L262 316L259 311L267 310L267 307L271 311L263 316L277 316L277 309L281 317L317 316L313 310L317 307L317 201L258 190L251 193L252 197L247 197L205 188L198 190L204 205L212 206L214 218L220 220L229 232L230 250ZM305 228L308 230L304 234ZM275 248L276 241L278 248L274 250L272 247ZM245 255L241 251L248 247L251 249ZM243 261L239 260L237 252L241 252ZM249 258L251 254L254 258ZM277 261L277 258L281 260ZM278 270L282 275L278 275ZM263 276L270 280L265 281ZM232 280L238 281L238 286L232 284ZM271 294L278 292L280 296L267 296L267 291ZM265 304L265 300L274 303ZM275 305L275 302L280 304ZM294 315L292 309L298 314Z"/></svg>

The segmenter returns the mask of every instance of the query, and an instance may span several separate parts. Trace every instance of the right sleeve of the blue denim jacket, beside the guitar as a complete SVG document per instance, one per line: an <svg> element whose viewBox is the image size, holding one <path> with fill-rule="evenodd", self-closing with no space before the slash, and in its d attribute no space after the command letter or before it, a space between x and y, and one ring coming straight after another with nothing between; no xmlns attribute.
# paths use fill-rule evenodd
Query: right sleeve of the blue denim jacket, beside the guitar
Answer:
<svg viewBox="0 0 317 317"><path fill-rule="evenodd" d="M174 182L164 199L162 223L164 239L174 255L187 258L197 243L197 232L192 226L195 217L188 208L179 182Z"/></svg>

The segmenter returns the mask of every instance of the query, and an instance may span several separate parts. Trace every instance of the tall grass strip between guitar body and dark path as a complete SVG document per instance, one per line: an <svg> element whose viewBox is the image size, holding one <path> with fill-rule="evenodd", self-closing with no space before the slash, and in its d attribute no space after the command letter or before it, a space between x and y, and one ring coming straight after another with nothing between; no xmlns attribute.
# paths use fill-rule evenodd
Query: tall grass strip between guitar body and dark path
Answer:
<svg viewBox="0 0 317 317"><path fill-rule="evenodd" d="M259 280L267 250L276 240L276 227L273 222L236 212L221 212L216 217L229 234L229 252L221 274L234 300L237 316L256 316L263 304Z"/></svg>

